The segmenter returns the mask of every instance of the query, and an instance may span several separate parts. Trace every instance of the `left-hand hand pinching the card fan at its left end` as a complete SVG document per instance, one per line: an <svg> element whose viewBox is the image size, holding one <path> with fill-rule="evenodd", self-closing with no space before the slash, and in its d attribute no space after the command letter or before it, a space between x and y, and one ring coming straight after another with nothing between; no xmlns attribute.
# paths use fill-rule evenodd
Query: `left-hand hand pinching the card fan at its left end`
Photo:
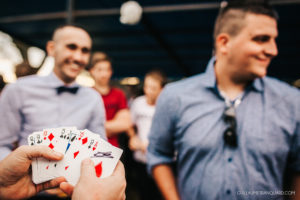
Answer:
<svg viewBox="0 0 300 200"><path fill-rule="evenodd" d="M32 159L43 157L61 160L63 155L46 146L21 146L0 162L0 199L24 199L38 192L57 187L64 182L63 177L41 184L31 180L30 164Z"/></svg>

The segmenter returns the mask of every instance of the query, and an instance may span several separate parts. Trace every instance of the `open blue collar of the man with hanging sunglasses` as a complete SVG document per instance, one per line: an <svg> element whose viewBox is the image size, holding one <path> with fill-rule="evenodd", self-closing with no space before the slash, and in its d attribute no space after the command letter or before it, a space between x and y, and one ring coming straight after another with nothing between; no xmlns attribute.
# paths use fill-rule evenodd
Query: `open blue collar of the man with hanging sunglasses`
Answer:
<svg viewBox="0 0 300 200"><path fill-rule="evenodd" d="M215 74L215 62L216 62L216 57L213 56L208 64L207 68L205 71L205 82L204 85L207 88L217 88L217 82L216 82L216 74ZM252 88L258 92L263 91L263 79L262 78L256 78L250 85L249 88Z"/></svg>

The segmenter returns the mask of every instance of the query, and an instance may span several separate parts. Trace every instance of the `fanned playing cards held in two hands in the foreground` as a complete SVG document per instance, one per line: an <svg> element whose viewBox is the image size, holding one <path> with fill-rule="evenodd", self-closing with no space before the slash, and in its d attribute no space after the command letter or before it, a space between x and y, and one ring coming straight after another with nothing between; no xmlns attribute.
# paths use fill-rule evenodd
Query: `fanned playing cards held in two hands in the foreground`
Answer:
<svg viewBox="0 0 300 200"><path fill-rule="evenodd" d="M64 176L70 184L76 185L80 177L81 161L85 158L93 160L98 177L110 176L123 152L98 134L89 130L77 130L76 127L34 132L28 136L28 144L46 145L64 154L60 161L37 158L32 162L32 180L35 184Z"/></svg>

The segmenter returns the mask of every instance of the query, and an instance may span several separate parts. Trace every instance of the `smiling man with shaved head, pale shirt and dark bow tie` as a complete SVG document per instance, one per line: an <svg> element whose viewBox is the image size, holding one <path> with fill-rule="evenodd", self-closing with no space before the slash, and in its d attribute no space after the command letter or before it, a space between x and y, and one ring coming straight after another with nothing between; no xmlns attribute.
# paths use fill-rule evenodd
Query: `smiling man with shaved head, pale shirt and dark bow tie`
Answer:
<svg viewBox="0 0 300 200"><path fill-rule="evenodd" d="M77 26L62 26L47 43L54 58L46 77L27 76L4 88L0 98L0 160L13 143L27 144L27 136L45 128L76 126L106 138L101 97L91 88L75 83L90 58L92 40Z"/></svg>

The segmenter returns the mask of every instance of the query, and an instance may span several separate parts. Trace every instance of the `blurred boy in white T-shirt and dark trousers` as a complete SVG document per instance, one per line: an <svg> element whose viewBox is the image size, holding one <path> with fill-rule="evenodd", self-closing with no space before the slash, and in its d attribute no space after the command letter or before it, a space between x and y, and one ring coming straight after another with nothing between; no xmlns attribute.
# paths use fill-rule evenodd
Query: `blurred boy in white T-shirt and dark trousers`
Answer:
<svg viewBox="0 0 300 200"><path fill-rule="evenodd" d="M128 130L130 136L129 148L134 151L135 173L138 179L136 185L139 197L143 200L162 199L153 178L147 173L146 151L156 100L166 82L167 78L161 71L152 70L148 72L144 80L145 95L134 99L130 108L135 127Z"/></svg>

